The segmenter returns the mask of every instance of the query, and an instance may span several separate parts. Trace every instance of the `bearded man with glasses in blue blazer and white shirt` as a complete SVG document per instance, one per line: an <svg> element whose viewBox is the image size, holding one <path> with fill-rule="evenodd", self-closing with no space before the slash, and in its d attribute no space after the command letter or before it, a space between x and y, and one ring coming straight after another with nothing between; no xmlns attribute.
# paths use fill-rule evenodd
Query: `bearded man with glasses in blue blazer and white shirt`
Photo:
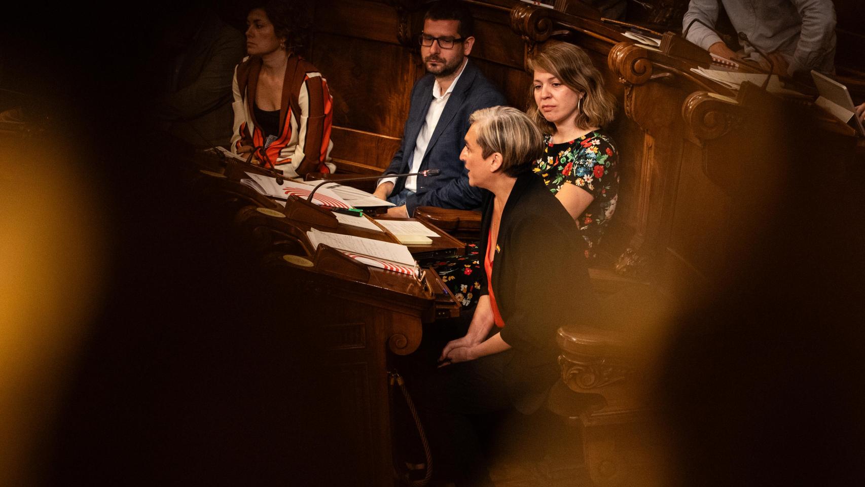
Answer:
<svg viewBox="0 0 865 487"><path fill-rule="evenodd" d="M391 216L410 216L414 208L479 208L482 190L469 186L459 160L469 115L505 105L502 93L468 60L475 38L471 12L462 3L433 3L418 38L426 76L415 83L400 150L384 174L439 170L439 176L384 177L375 195L397 206Z"/></svg>

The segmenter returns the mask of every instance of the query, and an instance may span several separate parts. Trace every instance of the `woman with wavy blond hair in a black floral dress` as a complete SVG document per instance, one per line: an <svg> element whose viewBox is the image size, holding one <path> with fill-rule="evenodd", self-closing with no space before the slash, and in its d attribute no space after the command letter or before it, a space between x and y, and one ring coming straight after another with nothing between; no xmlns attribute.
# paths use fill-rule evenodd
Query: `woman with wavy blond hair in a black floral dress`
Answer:
<svg viewBox="0 0 865 487"><path fill-rule="evenodd" d="M618 199L618 151L602 128L612 122L615 101L573 44L548 43L529 67L535 106L528 114L544 133L534 170L573 217L593 259Z"/></svg>

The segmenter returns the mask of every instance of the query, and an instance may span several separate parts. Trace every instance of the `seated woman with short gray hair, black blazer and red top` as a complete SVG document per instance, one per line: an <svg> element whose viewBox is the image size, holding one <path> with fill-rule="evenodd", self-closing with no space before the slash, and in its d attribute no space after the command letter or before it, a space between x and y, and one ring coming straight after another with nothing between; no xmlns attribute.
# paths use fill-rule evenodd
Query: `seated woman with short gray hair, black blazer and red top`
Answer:
<svg viewBox="0 0 865 487"><path fill-rule="evenodd" d="M525 113L494 106L471 115L459 157L469 184L490 191L479 247L487 285L468 332L445 345L439 369L414 391L433 471L457 485L491 485L469 417L541 406L559 376L556 330L582 316L568 297L590 289L577 227L531 171L541 140Z"/></svg>

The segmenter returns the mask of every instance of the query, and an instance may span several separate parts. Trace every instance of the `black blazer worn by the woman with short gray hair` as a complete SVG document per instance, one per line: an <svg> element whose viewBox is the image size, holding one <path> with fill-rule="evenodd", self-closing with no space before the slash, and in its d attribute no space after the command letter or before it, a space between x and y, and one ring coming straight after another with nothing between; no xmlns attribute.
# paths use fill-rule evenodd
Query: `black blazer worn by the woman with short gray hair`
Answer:
<svg viewBox="0 0 865 487"><path fill-rule="evenodd" d="M493 200L488 197L484 205L482 262ZM517 177L503 210L492 262L492 289L504 321L502 339L514 350L505 381L515 397L545 391L556 381L556 330L589 319L579 309L585 301L581 297L593 294L585 246L573 218L541 178L531 172ZM485 272L481 275L485 279ZM488 293L489 286L484 285L481 294Z"/></svg>

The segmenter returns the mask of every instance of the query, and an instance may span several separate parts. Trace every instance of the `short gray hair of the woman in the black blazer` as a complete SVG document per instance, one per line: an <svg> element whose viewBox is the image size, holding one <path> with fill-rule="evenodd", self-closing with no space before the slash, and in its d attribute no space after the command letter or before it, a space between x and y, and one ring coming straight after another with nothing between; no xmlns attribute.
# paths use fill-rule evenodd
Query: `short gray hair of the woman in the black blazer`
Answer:
<svg viewBox="0 0 865 487"><path fill-rule="evenodd" d="M469 122L475 125L477 145L481 154L490 157L502 154L504 174L516 177L531 169L543 152L543 136L537 126L511 106L491 106L471 114Z"/></svg>

